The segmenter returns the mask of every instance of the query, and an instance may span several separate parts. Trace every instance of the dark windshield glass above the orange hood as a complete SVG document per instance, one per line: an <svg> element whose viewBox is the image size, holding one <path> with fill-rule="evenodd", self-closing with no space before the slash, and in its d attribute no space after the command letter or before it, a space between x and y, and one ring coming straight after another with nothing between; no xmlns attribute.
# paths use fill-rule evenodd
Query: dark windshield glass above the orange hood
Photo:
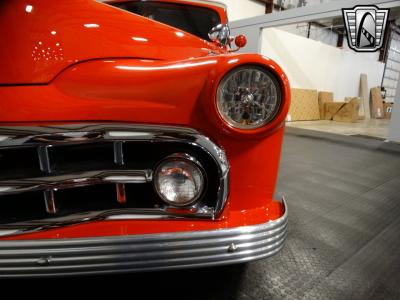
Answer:
<svg viewBox="0 0 400 300"><path fill-rule="evenodd" d="M179 28L208 41L210 40L208 32L221 23L216 11L194 5L157 1L127 1L110 4Z"/></svg>

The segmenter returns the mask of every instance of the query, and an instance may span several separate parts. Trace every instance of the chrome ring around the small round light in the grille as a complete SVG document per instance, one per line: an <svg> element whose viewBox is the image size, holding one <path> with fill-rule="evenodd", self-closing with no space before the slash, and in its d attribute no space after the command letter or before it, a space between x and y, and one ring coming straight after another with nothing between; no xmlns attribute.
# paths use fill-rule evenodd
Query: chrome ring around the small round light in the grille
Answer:
<svg viewBox="0 0 400 300"><path fill-rule="evenodd" d="M190 199L189 201L185 203L178 203L175 201L172 201L168 199L163 192L160 190L160 185L159 185L159 176L160 176L160 170L167 164L169 163L186 163L187 165L194 167L197 169L197 171L200 174L200 179L201 179L201 187L200 190L197 192L196 196ZM207 186L207 176L204 168L200 164L200 162L195 159L194 157L186 154L186 153L176 153L173 155L170 155L160 161L155 168L154 175L153 175L153 186L154 189L157 193L157 195L160 197L162 201L164 201L166 204L172 206L172 207L178 207L178 208L185 208L185 207L190 207L194 206L197 201L201 199L203 194L205 193L206 186Z"/></svg>

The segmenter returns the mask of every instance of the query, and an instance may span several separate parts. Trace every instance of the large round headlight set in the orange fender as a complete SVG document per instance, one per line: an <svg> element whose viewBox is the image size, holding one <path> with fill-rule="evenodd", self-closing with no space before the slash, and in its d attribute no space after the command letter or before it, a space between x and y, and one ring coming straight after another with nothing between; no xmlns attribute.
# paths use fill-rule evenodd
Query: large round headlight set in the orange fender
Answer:
<svg viewBox="0 0 400 300"><path fill-rule="evenodd" d="M244 66L234 69L221 81L217 108L230 126L256 129L270 122L281 104L280 85L266 69Z"/></svg>

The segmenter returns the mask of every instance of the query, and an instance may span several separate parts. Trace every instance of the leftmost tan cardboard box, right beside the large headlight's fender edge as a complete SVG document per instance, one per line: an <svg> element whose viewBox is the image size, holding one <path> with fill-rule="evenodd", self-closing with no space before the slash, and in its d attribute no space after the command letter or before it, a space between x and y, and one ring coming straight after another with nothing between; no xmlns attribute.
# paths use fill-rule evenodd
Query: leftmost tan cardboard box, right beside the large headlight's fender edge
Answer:
<svg viewBox="0 0 400 300"><path fill-rule="evenodd" d="M287 120L311 121L319 120L317 90L291 89L292 99Z"/></svg>

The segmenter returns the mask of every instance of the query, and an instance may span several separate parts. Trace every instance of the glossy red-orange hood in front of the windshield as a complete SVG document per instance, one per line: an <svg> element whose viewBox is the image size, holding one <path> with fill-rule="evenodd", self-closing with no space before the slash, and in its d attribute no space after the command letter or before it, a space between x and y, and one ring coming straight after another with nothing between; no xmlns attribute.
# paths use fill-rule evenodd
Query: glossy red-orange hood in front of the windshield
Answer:
<svg viewBox="0 0 400 300"><path fill-rule="evenodd" d="M218 51L186 32L93 0L27 3L0 3L0 84L48 83L69 65L96 58L181 60Z"/></svg>

